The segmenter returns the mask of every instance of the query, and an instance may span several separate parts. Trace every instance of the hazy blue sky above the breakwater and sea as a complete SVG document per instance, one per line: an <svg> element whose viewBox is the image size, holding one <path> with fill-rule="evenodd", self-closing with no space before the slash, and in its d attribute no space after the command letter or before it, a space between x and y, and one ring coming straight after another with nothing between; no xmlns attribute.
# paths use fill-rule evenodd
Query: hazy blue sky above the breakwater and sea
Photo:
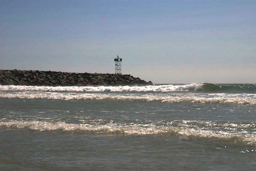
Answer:
<svg viewBox="0 0 256 171"><path fill-rule="evenodd" d="M255 0L0 0L0 69L256 83Z"/></svg>

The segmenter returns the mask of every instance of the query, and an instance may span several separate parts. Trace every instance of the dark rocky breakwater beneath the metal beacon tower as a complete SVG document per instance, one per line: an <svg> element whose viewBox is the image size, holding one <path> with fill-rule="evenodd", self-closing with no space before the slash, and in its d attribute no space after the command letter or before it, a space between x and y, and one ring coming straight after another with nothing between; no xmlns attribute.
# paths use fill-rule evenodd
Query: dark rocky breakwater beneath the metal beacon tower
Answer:
<svg viewBox="0 0 256 171"><path fill-rule="evenodd" d="M0 70L1 85L48 85L48 86L87 86L87 85L153 85L129 74L74 73L34 70Z"/></svg>

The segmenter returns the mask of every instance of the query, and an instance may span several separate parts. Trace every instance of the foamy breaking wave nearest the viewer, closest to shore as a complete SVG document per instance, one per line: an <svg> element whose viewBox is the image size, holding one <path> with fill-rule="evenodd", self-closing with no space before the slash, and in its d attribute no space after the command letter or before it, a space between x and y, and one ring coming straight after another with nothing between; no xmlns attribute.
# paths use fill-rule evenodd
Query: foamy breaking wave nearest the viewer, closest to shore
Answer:
<svg viewBox="0 0 256 171"><path fill-rule="evenodd" d="M228 141L230 144L243 144L256 146L256 135L242 134L239 132L225 132L222 130L204 130L203 128L186 128L152 124L119 125L108 123L99 124L71 124L63 122L41 121L1 121L1 128L29 129L39 131L78 131L95 134L120 134L120 135L173 135L194 138L206 138Z"/></svg>

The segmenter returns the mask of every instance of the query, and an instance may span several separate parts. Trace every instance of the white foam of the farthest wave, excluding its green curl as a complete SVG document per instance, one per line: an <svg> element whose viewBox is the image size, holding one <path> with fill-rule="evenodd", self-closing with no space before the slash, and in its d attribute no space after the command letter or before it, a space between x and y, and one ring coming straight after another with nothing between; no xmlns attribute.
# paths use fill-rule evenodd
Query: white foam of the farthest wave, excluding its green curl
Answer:
<svg viewBox="0 0 256 171"><path fill-rule="evenodd" d="M0 85L4 91L72 91L72 92L172 92L201 90L202 84L147 86L26 86Z"/></svg>

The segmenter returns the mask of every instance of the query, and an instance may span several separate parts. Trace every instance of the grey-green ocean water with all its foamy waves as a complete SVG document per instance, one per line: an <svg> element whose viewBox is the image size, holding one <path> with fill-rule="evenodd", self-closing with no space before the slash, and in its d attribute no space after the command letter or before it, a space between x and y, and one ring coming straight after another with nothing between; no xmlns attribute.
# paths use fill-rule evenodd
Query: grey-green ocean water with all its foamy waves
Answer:
<svg viewBox="0 0 256 171"><path fill-rule="evenodd" d="M255 170L256 85L0 85L0 170Z"/></svg>

